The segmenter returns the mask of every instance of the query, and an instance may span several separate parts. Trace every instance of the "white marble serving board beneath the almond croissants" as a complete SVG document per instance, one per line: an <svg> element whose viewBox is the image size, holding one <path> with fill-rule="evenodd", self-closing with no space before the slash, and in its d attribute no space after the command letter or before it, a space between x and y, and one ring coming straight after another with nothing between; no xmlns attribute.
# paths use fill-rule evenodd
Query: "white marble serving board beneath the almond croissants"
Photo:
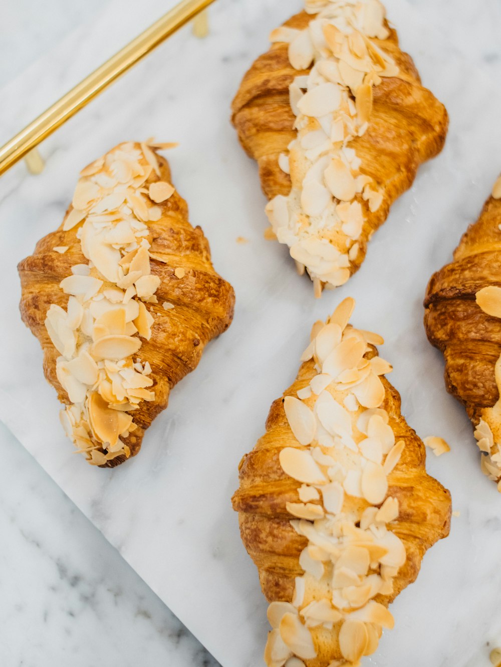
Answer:
<svg viewBox="0 0 501 667"><path fill-rule="evenodd" d="M422 325L428 278L476 219L500 167L501 91L407 1L386 4L425 85L450 111L450 135L394 205L359 273L320 300L287 249L263 239L257 168L228 122L244 71L299 0L219 0L207 39L188 30L170 39L45 142L43 175L25 176L18 165L0 184L0 419L224 667L262 664L267 633L257 572L230 506L238 461L295 377L311 323L347 295L357 300L353 323L385 337L381 354L395 368L390 380L409 424L422 437L450 442L452 452L430 456L428 470L461 512L450 538L424 559L418 582L393 604L395 630L367 664L478 667L485 642L501 630L501 498L480 472L470 424L445 392L442 358ZM161 0L128 5L110 3L94 25L76 29L3 91L11 100L0 111L3 139L166 9ZM57 76L47 79L47 71ZM62 433L39 344L17 311L16 264L59 225L83 165L119 141L150 135L180 141L168 155L174 183L210 241L216 270L234 285L236 311L228 332L172 392L140 455L100 470L73 454ZM238 236L249 243L238 245Z"/></svg>

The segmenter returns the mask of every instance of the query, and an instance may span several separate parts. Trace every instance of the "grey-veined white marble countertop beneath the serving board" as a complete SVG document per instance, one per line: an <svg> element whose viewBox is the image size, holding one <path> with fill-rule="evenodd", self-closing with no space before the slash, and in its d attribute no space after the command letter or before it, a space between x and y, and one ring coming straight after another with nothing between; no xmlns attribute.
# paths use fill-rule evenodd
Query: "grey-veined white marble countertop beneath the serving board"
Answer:
<svg viewBox="0 0 501 667"><path fill-rule="evenodd" d="M467 0L412 4L472 63L501 81L498 0L484 0L481 11ZM0 88L105 6L88 0L71 3L70 10L62 0L47 0L42 12L33 0L19 0L3 7ZM45 100L33 101L37 110L39 102ZM0 442L2 667L216 665L2 424Z"/></svg>

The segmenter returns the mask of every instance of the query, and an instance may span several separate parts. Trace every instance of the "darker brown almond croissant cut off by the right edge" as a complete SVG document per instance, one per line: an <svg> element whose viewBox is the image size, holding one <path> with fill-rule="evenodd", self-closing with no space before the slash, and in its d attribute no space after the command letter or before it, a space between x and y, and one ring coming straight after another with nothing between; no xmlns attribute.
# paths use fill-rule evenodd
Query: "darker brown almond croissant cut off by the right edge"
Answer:
<svg viewBox="0 0 501 667"><path fill-rule="evenodd" d="M466 408L482 471L501 492L501 177L476 223L434 273L424 301L430 343L444 354L446 388Z"/></svg>

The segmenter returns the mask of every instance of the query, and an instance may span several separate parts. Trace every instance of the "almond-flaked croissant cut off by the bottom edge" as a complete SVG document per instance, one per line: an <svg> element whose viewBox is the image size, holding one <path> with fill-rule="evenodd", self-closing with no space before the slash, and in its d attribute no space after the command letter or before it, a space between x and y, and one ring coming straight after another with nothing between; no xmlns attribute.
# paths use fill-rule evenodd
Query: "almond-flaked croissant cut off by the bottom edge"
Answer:
<svg viewBox="0 0 501 667"><path fill-rule="evenodd" d="M232 504L271 603L268 667L359 665L450 528L450 494L426 474L424 444L383 377L383 340L348 324L353 305L315 323L295 382L240 462Z"/></svg>

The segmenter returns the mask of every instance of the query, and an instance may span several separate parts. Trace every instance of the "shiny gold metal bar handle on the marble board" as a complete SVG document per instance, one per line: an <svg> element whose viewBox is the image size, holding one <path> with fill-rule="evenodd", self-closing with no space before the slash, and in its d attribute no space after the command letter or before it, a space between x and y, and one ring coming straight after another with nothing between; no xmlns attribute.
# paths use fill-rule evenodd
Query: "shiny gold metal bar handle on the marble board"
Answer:
<svg viewBox="0 0 501 667"><path fill-rule="evenodd" d="M214 0L182 0L0 148L0 175Z"/></svg>

